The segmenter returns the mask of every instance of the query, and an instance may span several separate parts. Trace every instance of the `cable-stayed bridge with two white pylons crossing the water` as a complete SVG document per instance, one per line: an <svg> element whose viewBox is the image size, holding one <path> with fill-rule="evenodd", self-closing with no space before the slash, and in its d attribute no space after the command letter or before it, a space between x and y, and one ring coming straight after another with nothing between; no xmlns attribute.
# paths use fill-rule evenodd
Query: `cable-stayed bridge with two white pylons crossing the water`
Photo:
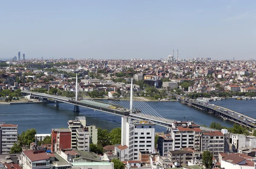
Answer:
<svg viewBox="0 0 256 169"><path fill-rule="evenodd" d="M65 91L61 95L49 95L45 93L30 91L22 92L29 94L31 97L38 97L41 100L55 100L55 106L59 106L59 102L73 104L75 112L79 112L79 106L81 106L88 109L94 109L100 112L131 117L132 119L136 120L150 120L151 122L159 126L164 126L167 129L170 129L172 127L172 123L175 121L162 117L159 113L152 109L145 101L138 97L132 91L132 87L130 92L123 95L119 99L113 100L111 103L93 100L87 94L87 92L85 92L78 85L77 78L76 87L73 90L75 90L75 92L69 90ZM208 128L204 128L204 130L208 130Z"/></svg>

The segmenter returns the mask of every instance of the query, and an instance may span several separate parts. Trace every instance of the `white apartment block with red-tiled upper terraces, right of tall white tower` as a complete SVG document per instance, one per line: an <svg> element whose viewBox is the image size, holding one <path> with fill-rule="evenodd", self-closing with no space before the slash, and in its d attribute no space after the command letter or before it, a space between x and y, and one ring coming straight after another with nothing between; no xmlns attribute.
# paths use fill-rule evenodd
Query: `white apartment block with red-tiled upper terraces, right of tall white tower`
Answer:
<svg viewBox="0 0 256 169"><path fill-rule="evenodd" d="M193 121L173 122L171 129L173 139L172 150L180 150L180 148L186 147L194 147L195 150L199 150L201 134L200 126L196 125Z"/></svg>

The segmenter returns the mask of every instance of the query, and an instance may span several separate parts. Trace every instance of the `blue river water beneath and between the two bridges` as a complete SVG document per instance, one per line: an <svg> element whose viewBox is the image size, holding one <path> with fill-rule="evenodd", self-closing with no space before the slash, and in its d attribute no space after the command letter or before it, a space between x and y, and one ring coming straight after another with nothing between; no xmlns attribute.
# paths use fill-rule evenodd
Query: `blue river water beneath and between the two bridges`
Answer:
<svg viewBox="0 0 256 169"><path fill-rule="evenodd" d="M109 102L110 100L104 100ZM219 106L241 112L251 117L256 117L256 100L221 100L212 102ZM175 120L194 120L198 125L209 126L213 121L221 123L223 126L231 127L233 123L224 121L207 112L181 104L180 102L148 102L153 109L165 118ZM121 117L105 112L98 112L80 107L80 112L73 112L73 105L60 103L55 107L49 104L14 104L0 105L0 122L18 125L18 132L35 128L39 134L51 133L54 128L67 128L67 121L75 119L76 116L85 116L88 125L96 125L103 129L111 130L121 127ZM164 127L157 126L157 132L166 131Z"/></svg>

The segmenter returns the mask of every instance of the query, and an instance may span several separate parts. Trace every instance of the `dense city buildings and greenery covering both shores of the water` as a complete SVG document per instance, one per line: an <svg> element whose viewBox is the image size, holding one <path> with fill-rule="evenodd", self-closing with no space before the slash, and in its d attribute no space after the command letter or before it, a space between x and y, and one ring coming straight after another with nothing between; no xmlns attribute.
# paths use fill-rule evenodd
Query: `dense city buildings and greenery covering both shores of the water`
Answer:
<svg viewBox="0 0 256 169"><path fill-rule="evenodd" d="M173 52L158 60L27 60L18 52L11 60L0 60L0 72L1 104L45 101L32 97L32 93L67 97L66 93L76 93L77 87L90 98L106 100L122 100L132 91L143 102L177 100L208 109L212 105L208 112L224 110L221 117L235 123L227 128L215 122L200 126L193 121L174 120L167 131L156 132L155 125L160 123L122 116L121 128L108 131L87 125L86 117L77 116L67 122L67 128L52 129L52 133L37 134L35 129L28 129L20 135L16 124L1 123L2 167L228 168L234 165L230 160L235 159L241 168L255 165L255 120L239 114L236 120L232 117L235 112L231 115L230 110L208 103L216 99L254 99L255 60L179 59L178 52L176 59ZM59 106L56 101L55 106Z"/></svg>

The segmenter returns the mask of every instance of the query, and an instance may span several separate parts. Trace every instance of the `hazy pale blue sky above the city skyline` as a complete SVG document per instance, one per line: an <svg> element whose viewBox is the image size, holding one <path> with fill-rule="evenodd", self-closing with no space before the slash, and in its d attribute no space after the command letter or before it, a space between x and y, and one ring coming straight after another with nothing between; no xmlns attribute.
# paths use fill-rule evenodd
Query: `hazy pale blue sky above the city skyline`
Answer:
<svg viewBox="0 0 256 169"><path fill-rule="evenodd" d="M181 59L256 59L256 1L0 2L0 58L157 60L172 49Z"/></svg>

